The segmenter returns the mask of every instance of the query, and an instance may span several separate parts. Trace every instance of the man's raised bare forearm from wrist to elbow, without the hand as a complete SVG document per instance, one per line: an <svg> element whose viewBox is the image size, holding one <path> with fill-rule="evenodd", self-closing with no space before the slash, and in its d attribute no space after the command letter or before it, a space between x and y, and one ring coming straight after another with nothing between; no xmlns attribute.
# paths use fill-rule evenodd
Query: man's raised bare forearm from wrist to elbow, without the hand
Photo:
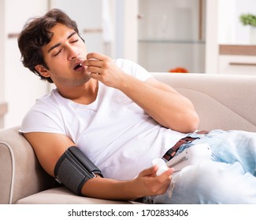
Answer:
<svg viewBox="0 0 256 220"><path fill-rule="evenodd" d="M130 75L120 90L164 127L188 133L198 127L198 115L191 101L162 83L144 83ZM159 87L158 87L159 86Z"/></svg>

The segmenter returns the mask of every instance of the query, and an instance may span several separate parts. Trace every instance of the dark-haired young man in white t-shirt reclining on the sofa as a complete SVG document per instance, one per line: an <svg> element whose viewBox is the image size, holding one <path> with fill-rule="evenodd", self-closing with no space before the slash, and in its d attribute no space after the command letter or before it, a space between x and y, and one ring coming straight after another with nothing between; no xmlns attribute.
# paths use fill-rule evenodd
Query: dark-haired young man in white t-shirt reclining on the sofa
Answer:
<svg viewBox="0 0 256 220"><path fill-rule="evenodd" d="M145 203L256 203L256 134L198 134L191 101L131 61L87 53L76 22L58 9L30 20L18 44L24 66L57 87L35 103L20 131L46 172L69 178L70 189ZM208 143L212 160L157 175L152 160L169 159L165 152L180 139L178 153ZM93 178L89 169L80 181L69 170L70 146L102 175Z"/></svg>

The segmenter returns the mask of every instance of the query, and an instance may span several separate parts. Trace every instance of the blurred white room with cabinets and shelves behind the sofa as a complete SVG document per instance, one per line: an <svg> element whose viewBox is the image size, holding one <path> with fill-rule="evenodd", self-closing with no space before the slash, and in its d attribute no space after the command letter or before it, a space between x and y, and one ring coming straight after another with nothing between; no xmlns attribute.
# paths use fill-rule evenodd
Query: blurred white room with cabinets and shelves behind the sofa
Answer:
<svg viewBox="0 0 256 220"><path fill-rule="evenodd" d="M20 63L17 35L53 8L76 20L88 52L150 72L256 75L256 27L240 20L255 0L0 0L0 128L52 88Z"/></svg>

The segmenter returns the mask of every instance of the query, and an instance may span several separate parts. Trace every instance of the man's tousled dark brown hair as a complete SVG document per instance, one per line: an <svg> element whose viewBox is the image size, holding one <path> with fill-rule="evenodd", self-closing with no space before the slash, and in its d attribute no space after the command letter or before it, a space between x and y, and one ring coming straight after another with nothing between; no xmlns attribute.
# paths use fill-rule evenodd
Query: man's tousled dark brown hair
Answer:
<svg viewBox="0 0 256 220"><path fill-rule="evenodd" d="M51 9L44 16L34 17L28 20L18 37L18 46L24 67L29 68L35 75L39 75L41 79L47 80L49 83L54 82L50 77L40 75L35 69L35 66L42 64L44 68L49 69L43 59L42 47L50 42L53 36L50 28L58 23L72 28L79 34L76 21L72 20L60 9Z"/></svg>

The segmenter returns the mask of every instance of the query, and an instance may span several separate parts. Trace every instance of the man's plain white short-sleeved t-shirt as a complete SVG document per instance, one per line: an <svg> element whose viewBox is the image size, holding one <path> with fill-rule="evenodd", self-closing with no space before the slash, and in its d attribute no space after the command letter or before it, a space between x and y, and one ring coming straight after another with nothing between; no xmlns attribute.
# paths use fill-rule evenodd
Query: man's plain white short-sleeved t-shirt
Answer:
<svg viewBox="0 0 256 220"><path fill-rule="evenodd" d="M132 61L117 66L142 81L150 73ZM67 135L106 178L127 180L151 166L186 134L161 127L120 90L99 82L90 105L61 97L58 90L39 98L21 125L22 133L50 132Z"/></svg>

